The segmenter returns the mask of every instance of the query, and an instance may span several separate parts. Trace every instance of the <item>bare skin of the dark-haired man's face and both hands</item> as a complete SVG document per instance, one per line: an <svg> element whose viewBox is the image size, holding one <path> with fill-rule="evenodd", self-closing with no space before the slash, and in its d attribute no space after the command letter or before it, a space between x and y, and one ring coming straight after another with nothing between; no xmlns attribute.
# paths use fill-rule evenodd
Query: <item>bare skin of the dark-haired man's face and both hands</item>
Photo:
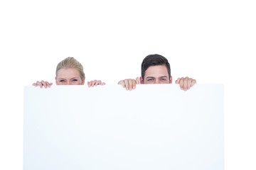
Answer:
<svg viewBox="0 0 256 170"><path fill-rule="evenodd" d="M146 69L144 79L142 77L137 77L136 79L124 79L118 82L125 89L132 90L136 88L136 84L171 84L172 77L169 77L166 66L156 65L150 66ZM176 79L176 84L179 84L181 90L187 91L194 84L196 84L195 79L189 77L181 77Z"/></svg>

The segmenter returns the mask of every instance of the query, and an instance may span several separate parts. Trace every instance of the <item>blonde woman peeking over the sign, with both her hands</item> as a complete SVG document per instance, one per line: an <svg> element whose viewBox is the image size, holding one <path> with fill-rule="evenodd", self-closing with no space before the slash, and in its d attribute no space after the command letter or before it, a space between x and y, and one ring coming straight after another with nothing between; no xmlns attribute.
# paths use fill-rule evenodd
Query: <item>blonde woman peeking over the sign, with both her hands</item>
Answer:
<svg viewBox="0 0 256 170"><path fill-rule="evenodd" d="M83 72L83 67L78 60L75 60L74 57L67 57L65 60L58 63L56 68L56 85L84 85L85 84L85 73ZM53 83L48 81L36 81L33 83L33 86L40 86L43 88L50 87ZM100 80L88 81L87 85L97 86L105 85L104 82Z"/></svg>

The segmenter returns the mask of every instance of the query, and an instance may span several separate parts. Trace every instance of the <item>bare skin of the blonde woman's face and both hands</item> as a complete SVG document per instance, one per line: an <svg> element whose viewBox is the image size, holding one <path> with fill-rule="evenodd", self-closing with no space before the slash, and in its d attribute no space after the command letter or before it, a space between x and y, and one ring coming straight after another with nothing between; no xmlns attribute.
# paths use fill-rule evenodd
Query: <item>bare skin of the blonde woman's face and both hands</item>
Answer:
<svg viewBox="0 0 256 170"><path fill-rule="evenodd" d="M75 68L67 68L67 69L59 69L57 72L57 77L55 77L56 85L84 85L85 79L80 77L78 69ZM40 86L43 88L48 88L53 85L53 83L49 83L48 81L36 81L36 83L32 84L33 86ZM87 81L87 85L89 87L97 86L97 85L105 85L104 82L100 80Z"/></svg>

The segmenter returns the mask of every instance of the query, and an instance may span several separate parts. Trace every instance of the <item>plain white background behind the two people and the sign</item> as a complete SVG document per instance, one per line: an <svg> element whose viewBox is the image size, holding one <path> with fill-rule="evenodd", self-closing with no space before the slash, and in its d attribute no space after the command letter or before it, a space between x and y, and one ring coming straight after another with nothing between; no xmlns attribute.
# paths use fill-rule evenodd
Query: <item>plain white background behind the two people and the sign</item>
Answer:
<svg viewBox="0 0 256 170"><path fill-rule="evenodd" d="M171 74L225 85L225 169L256 169L254 1L1 1L0 169L22 169L23 86L75 57L117 84L158 53Z"/></svg>

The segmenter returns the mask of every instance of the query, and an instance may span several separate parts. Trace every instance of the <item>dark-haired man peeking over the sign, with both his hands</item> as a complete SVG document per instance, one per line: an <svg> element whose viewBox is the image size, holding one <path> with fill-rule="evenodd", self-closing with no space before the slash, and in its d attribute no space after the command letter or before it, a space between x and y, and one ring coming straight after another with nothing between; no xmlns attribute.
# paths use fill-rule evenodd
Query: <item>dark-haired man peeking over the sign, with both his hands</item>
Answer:
<svg viewBox="0 0 256 170"><path fill-rule="evenodd" d="M161 55L148 55L142 62L142 77L124 79L118 82L127 90L135 89L136 84L171 84L171 67L168 60ZM195 79L181 77L176 79L182 90L186 91L196 84Z"/></svg>

